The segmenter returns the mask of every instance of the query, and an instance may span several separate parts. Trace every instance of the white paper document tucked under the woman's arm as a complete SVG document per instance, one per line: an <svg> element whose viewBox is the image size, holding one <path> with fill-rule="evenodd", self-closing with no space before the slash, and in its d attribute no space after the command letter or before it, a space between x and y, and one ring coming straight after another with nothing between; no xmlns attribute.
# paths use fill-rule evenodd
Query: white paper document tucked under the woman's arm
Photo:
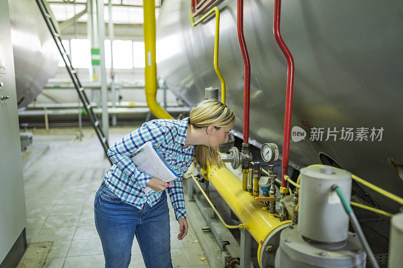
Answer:
<svg viewBox="0 0 403 268"><path fill-rule="evenodd" d="M146 142L137 149L131 156L131 160L141 172L157 177L166 183L175 180L178 176L154 148L154 142L152 141ZM143 190L146 193L152 191L150 187L143 188Z"/></svg>

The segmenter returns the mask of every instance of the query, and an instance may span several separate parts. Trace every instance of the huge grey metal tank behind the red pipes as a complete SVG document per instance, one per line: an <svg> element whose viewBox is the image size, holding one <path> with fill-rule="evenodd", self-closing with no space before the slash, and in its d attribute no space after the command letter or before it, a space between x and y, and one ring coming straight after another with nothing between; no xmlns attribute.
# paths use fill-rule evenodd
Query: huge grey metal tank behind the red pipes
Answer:
<svg viewBox="0 0 403 268"><path fill-rule="evenodd" d="M218 1L219 67L226 103L242 132L244 65L236 31L236 1ZM244 2L244 35L251 62L250 138L282 148L287 62L273 34L274 1ZM299 166L335 161L394 194L403 195L403 2L283 1L281 33L295 61L291 126L305 139L290 145ZM192 27L190 2L165 0L157 23L158 76L188 103L220 87L213 66L215 18ZM342 128L383 128L382 138L347 141ZM310 140L324 128L322 140ZM339 131L327 138L327 128ZM345 129L346 130L346 129ZM365 129L363 129L365 131ZM376 132L378 134L379 131ZM334 133L333 133L334 134ZM366 189L377 205L398 205Z"/></svg>

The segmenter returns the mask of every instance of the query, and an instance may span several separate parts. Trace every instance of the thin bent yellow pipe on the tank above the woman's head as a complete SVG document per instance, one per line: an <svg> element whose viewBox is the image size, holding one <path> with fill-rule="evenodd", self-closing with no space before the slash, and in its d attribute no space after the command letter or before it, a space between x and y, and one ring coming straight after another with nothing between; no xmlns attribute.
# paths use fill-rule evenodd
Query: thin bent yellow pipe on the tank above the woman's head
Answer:
<svg viewBox="0 0 403 268"><path fill-rule="evenodd" d="M190 22L192 23L192 26L194 27L197 24L199 24L200 22L207 19L213 13L216 14L216 37L214 40L214 69L216 70L217 76L221 82L221 102L223 104L225 104L225 81L224 81L223 75L221 74L220 69L218 68L218 44L219 44L219 39L220 39L220 10L217 7L214 7L208 13L203 15L203 17L198 19L196 22L194 22L193 16L190 13Z"/></svg>

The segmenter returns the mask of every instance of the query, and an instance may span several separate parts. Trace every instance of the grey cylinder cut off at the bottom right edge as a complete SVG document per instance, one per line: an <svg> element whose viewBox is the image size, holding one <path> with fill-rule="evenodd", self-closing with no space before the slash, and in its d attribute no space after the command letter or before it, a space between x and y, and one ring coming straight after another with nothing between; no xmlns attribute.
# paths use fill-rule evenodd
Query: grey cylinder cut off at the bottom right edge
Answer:
<svg viewBox="0 0 403 268"><path fill-rule="evenodd" d="M403 263L403 213L392 217L389 238L389 268L401 267Z"/></svg>

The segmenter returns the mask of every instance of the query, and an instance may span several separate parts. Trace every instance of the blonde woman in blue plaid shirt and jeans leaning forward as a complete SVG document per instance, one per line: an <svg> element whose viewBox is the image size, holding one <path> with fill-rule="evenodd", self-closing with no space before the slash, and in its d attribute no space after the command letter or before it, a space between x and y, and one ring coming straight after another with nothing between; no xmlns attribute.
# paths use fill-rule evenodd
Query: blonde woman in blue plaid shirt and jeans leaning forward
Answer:
<svg viewBox="0 0 403 268"><path fill-rule="evenodd" d="M218 146L228 140L234 113L217 100L192 107L183 120L152 120L118 140L108 150L114 163L95 195L95 226L101 238L105 267L127 267L136 236L147 267L172 267L168 192L179 223L178 239L187 234L182 176L194 160L203 168L220 164ZM154 147L179 175L165 183L136 168L133 154L145 142ZM146 194L145 187L154 191Z"/></svg>

